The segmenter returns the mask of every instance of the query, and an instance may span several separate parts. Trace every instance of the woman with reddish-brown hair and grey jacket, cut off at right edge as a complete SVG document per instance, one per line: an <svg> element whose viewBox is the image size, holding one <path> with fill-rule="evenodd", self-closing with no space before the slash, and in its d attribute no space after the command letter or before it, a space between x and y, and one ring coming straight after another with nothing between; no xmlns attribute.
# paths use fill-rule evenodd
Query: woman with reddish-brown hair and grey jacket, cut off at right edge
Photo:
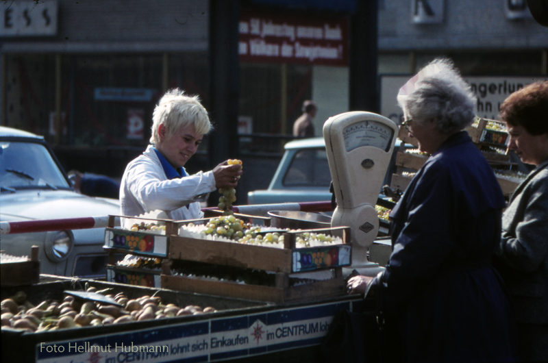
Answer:
<svg viewBox="0 0 548 363"><path fill-rule="evenodd" d="M548 362L548 82L536 82L501 105L508 149L535 168L516 188L502 219L496 266L516 310L519 358Z"/></svg>

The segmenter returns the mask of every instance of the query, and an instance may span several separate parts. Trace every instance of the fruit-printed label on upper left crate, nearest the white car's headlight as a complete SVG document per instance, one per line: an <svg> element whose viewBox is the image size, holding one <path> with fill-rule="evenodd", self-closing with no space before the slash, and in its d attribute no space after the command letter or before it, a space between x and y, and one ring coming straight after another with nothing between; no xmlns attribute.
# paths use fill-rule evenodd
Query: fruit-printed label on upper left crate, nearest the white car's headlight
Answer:
<svg viewBox="0 0 548 363"><path fill-rule="evenodd" d="M105 247L165 257L167 237L122 229L105 229Z"/></svg>

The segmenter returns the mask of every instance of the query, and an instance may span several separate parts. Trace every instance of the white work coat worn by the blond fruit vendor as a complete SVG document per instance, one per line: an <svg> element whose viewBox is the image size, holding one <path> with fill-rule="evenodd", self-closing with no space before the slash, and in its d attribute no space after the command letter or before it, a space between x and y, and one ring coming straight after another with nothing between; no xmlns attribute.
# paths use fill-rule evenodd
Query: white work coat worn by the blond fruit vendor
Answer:
<svg viewBox="0 0 548 363"><path fill-rule="evenodd" d="M120 186L120 212L122 216L139 216L162 210L174 221L202 218L199 202L205 201L214 190L212 171L167 179L158 155L149 145L125 168Z"/></svg>

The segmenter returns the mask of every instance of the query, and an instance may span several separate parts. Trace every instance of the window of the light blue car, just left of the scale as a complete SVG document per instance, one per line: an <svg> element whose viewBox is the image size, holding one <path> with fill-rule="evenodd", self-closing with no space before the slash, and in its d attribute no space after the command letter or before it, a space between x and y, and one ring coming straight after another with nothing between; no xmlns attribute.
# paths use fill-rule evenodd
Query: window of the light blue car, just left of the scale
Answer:
<svg viewBox="0 0 548 363"><path fill-rule="evenodd" d="M283 179L284 186L327 187L331 173L325 149L301 150L295 153Z"/></svg>

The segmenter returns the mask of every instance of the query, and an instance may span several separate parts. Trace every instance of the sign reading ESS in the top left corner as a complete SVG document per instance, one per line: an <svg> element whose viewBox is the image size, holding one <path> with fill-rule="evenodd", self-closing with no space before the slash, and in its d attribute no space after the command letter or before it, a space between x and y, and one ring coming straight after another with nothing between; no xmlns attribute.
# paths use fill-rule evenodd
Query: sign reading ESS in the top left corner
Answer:
<svg viewBox="0 0 548 363"><path fill-rule="evenodd" d="M57 34L58 3L4 0L0 8L0 37L54 36Z"/></svg>

